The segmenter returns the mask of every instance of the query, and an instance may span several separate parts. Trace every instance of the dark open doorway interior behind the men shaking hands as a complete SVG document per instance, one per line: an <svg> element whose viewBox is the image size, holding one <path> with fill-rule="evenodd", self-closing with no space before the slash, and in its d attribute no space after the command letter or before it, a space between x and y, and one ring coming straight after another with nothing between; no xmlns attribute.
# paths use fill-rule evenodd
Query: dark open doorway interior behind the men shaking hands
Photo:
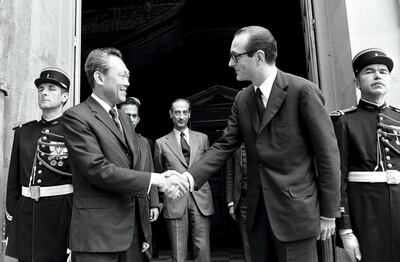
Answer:
<svg viewBox="0 0 400 262"><path fill-rule="evenodd" d="M243 26L270 29L278 42L278 68L307 77L300 1L82 2L82 68L93 48L113 46L122 51L131 70L128 95L142 101L138 132L153 140L172 129L168 109L173 99L193 96L214 85L236 90L248 85L236 81L235 72L228 67L233 34ZM81 100L90 93L83 76ZM216 212L227 212L225 205L220 206ZM220 230L211 232L212 247L240 246L237 226L226 214L227 235ZM166 231L159 228L162 248L168 239Z"/></svg>

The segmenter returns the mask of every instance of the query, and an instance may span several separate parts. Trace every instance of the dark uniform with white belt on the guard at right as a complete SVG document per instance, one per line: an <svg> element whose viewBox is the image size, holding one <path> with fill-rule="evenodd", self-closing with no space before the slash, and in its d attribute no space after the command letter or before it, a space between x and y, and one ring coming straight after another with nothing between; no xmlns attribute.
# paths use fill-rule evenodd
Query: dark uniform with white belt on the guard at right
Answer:
<svg viewBox="0 0 400 262"><path fill-rule="evenodd" d="M400 261L400 110L360 100L331 114L341 154L342 217L363 262Z"/></svg>

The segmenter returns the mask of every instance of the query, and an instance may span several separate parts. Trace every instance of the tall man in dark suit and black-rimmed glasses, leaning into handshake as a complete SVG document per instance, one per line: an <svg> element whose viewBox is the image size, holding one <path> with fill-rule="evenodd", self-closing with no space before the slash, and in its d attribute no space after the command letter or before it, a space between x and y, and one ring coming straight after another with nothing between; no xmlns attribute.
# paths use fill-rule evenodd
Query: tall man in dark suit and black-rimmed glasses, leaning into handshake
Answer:
<svg viewBox="0 0 400 262"><path fill-rule="evenodd" d="M240 29L230 53L237 80L252 85L236 96L221 138L185 174L191 188L201 186L244 142L252 261L317 261L316 240L334 233L340 199L324 98L314 83L276 68L266 28Z"/></svg>

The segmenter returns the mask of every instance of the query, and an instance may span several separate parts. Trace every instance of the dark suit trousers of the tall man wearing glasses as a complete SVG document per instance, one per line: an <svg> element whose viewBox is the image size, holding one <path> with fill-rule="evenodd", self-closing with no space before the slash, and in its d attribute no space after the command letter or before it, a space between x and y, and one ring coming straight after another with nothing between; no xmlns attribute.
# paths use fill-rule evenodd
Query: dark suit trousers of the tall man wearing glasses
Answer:
<svg viewBox="0 0 400 262"><path fill-rule="evenodd" d="M272 232L262 193L258 199L253 228L249 230L253 262L317 262L317 239L279 241Z"/></svg>

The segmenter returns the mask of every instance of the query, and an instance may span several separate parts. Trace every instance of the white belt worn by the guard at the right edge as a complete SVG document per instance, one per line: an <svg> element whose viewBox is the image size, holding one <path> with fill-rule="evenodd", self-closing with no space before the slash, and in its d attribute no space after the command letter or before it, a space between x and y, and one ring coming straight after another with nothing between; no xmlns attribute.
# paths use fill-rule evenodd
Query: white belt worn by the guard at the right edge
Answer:
<svg viewBox="0 0 400 262"><path fill-rule="evenodd" d="M351 171L349 172L348 180L350 182L400 184L400 172L397 170L378 172Z"/></svg>

